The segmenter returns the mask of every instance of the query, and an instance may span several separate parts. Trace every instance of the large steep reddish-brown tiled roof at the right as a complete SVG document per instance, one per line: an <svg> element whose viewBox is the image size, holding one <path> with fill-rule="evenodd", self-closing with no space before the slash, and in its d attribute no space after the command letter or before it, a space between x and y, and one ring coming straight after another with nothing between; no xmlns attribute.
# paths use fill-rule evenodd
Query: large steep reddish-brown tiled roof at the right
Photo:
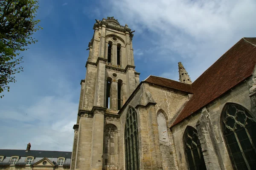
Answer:
<svg viewBox="0 0 256 170"><path fill-rule="evenodd" d="M172 126L251 76L255 65L256 37L242 38L192 83L193 96Z"/></svg>

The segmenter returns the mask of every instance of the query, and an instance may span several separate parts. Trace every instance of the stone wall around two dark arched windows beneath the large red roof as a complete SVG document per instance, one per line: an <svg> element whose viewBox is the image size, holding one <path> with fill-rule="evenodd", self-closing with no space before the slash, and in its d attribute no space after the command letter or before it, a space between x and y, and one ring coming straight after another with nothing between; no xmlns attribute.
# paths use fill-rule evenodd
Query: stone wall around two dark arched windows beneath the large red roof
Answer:
<svg viewBox="0 0 256 170"><path fill-rule="evenodd" d="M205 133L207 133L208 136L211 136L207 139L208 143L207 141L200 141L206 164L209 162L209 160L206 158L212 159L212 164L214 164L209 165L211 166L211 168L208 167L209 169L233 170L230 157L227 152L227 147L221 132L221 111L225 104L231 102L240 104L248 109L254 117L256 117L256 108L250 100L249 89L250 86L248 81L244 81L206 106L205 109L208 110L207 114L209 115L209 118L207 119L210 121L209 127L212 128L213 133L211 134L211 130L204 129ZM200 128L196 127L196 124L199 123L198 120L201 116L202 112L198 111L171 128L179 170L188 169L183 146L183 133L187 126L192 126L195 129L200 130ZM202 142L206 142L208 144L207 150L203 149L204 145L202 145ZM207 152L205 151L215 154L215 160L213 160L214 156L211 157L210 155L207 155Z"/></svg>

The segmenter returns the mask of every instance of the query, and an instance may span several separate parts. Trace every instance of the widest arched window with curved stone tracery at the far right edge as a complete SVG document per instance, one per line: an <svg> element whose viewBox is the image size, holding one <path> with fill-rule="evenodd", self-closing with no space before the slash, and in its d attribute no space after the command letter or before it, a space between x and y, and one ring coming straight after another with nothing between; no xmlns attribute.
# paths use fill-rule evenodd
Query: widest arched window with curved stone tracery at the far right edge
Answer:
<svg viewBox="0 0 256 170"><path fill-rule="evenodd" d="M256 169L256 121L239 104L228 103L221 114L222 133L236 170Z"/></svg>

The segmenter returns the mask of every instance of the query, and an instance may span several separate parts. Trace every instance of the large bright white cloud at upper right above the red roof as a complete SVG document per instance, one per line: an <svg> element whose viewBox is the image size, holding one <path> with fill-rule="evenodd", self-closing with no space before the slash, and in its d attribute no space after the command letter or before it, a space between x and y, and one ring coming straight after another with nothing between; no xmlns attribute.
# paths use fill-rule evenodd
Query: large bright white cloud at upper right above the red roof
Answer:
<svg viewBox="0 0 256 170"><path fill-rule="evenodd" d="M197 78L242 37L255 36L255 0L110 2L108 8L113 16L118 16L120 23L128 23L137 34L145 35L145 31L149 30L151 35L157 35L151 36L154 38L151 44L158 48L159 62L183 61L184 66L192 70L192 79ZM181 58L170 56L172 53Z"/></svg>

